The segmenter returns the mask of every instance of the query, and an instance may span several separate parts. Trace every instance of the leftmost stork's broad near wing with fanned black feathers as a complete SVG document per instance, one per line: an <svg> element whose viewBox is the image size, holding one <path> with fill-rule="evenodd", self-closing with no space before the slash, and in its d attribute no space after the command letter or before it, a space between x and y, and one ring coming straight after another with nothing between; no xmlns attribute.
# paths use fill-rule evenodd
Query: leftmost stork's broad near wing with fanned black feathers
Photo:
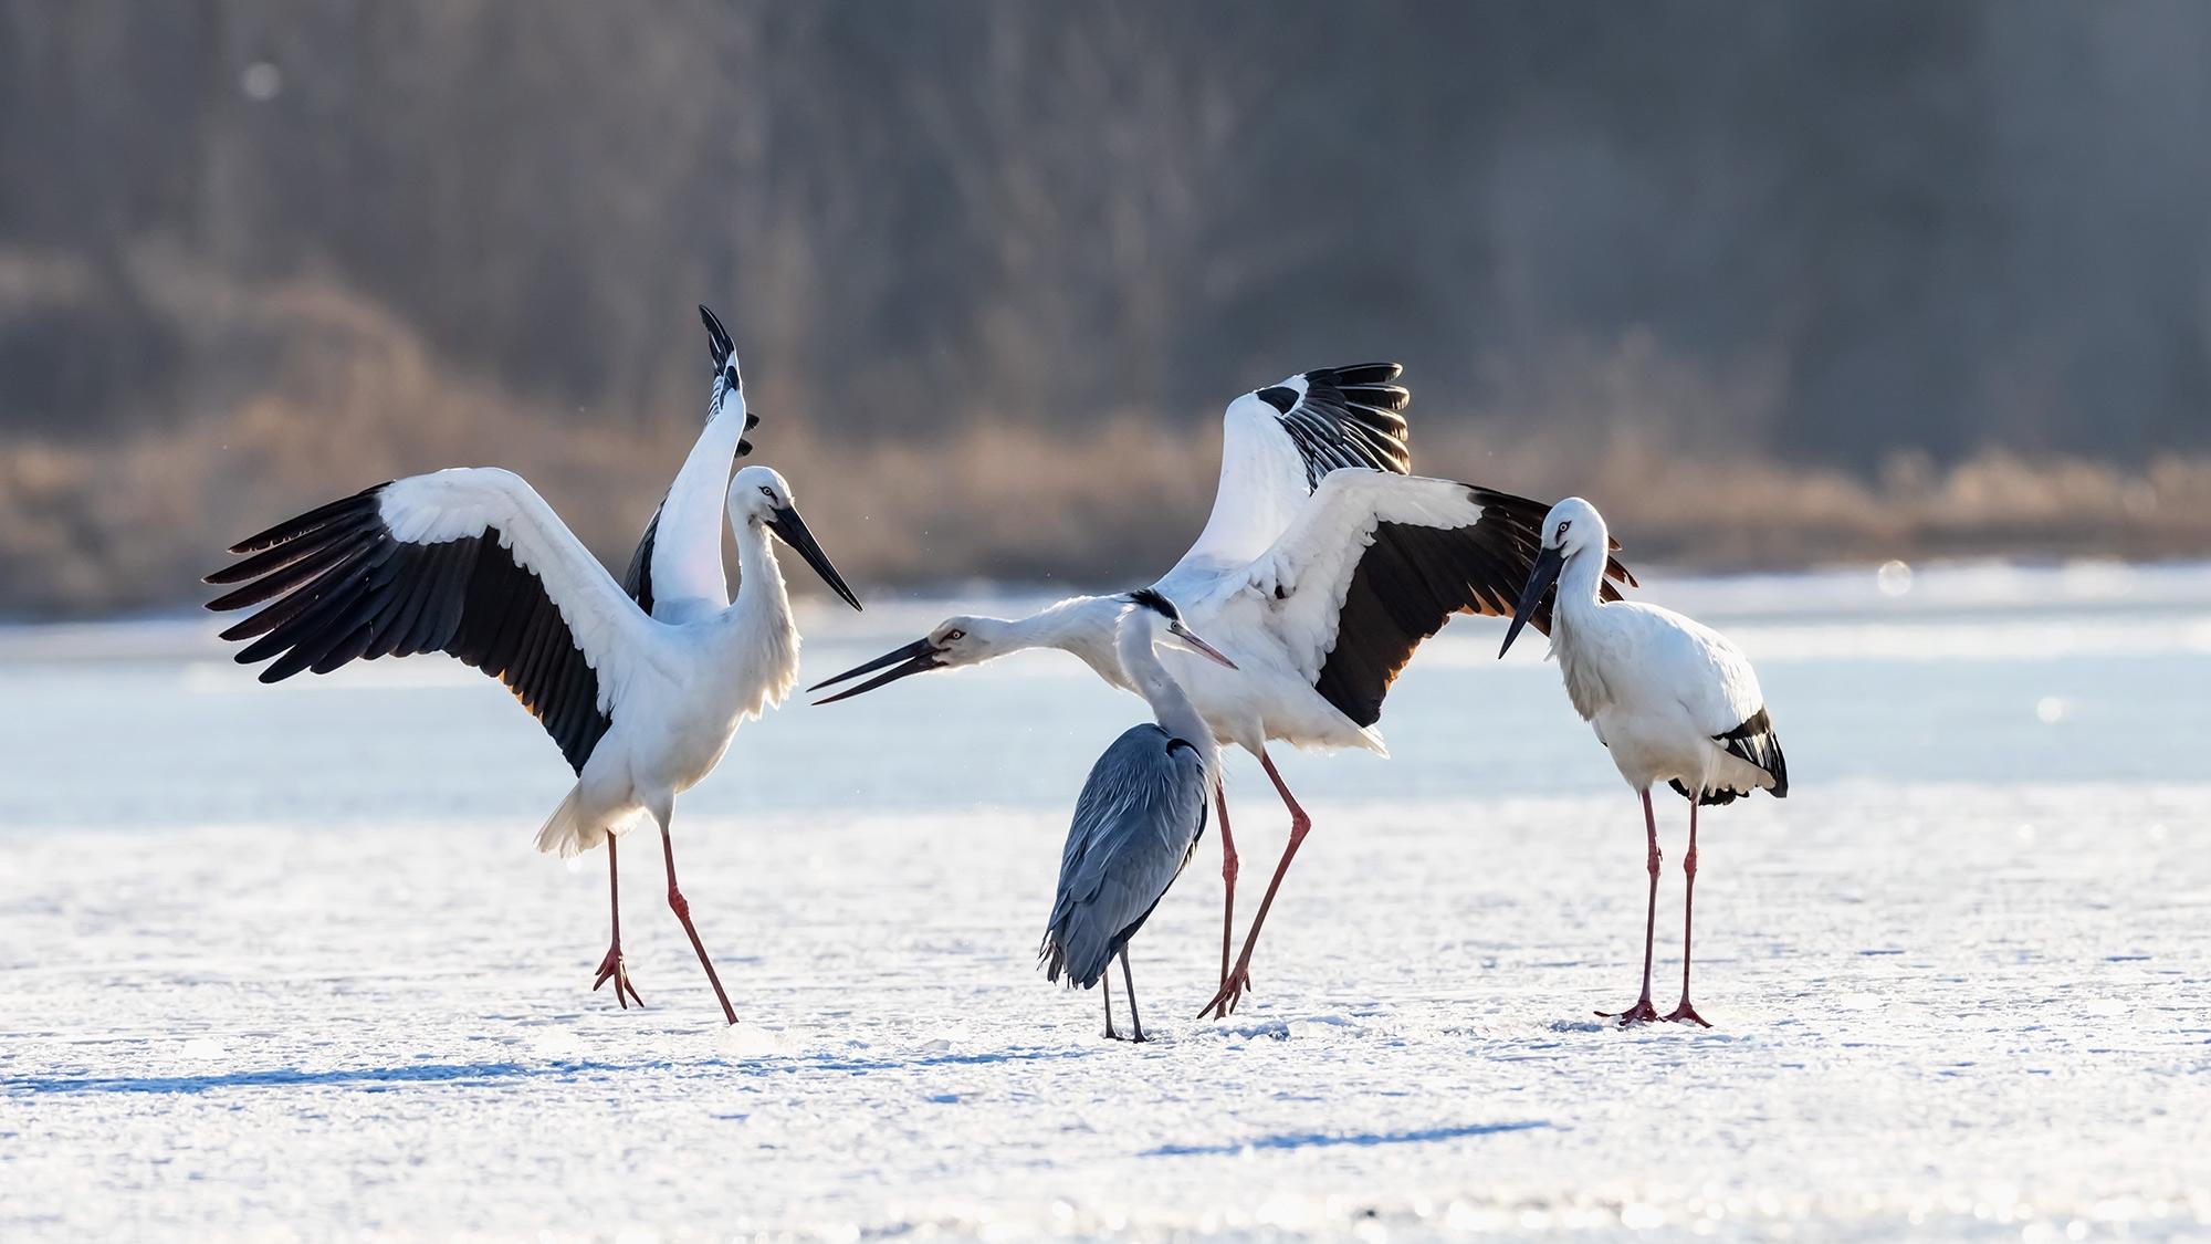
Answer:
<svg viewBox="0 0 2211 1244"><path fill-rule="evenodd" d="M358 491L232 545L208 576L254 609L223 640L261 682L352 660L453 653L497 677L575 770L661 644L606 567L520 476L460 467ZM259 609L256 609L259 607Z"/></svg>

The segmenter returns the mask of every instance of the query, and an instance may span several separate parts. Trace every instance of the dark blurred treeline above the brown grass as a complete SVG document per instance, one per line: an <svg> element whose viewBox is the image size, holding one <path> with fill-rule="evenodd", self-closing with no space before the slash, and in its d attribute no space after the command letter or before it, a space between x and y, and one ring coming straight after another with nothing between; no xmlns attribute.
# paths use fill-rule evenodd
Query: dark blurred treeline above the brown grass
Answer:
<svg viewBox="0 0 2211 1244"><path fill-rule="evenodd" d="M712 301L838 434L1369 354L1543 407L1638 334L1736 398L1691 447L2125 460L2211 438L2207 64L2184 0L7 0L0 410L252 383L153 248L548 412L690 383Z"/></svg>

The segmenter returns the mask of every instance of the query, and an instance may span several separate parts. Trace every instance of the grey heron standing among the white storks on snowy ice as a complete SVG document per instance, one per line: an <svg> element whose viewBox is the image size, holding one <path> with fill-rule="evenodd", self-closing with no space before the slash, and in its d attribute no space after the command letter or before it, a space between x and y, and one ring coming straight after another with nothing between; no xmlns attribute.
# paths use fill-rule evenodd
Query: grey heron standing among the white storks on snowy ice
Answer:
<svg viewBox="0 0 2211 1244"><path fill-rule="evenodd" d="M1090 766L1068 846L1059 859L1059 892L1044 927L1037 958L1046 981L1066 972L1068 987L1088 989L1121 956L1128 985L1128 1023L1143 1040L1136 978L1128 941L1152 919L1205 834L1205 795L1220 768L1220 748L1198 708L1159 660L1161 644L1178 644L1225 668L1236 668L1212 644L1190 633L1183 615L1152 589L1132 593L1114 633L1121 668L1152 706L1156 724L1130 726ZM1112 1029L1112 981L1106 981L1106 1038Z"/></svg>

